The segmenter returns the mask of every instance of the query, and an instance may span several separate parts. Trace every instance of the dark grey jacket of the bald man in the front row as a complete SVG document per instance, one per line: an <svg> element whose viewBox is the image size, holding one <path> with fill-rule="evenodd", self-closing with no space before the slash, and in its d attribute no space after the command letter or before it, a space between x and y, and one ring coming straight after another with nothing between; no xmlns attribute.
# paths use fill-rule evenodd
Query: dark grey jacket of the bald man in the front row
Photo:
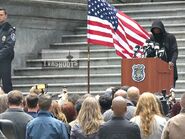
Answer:
<svg viewBox="0 0 185 139"><path fill-rule="evenodd" d="M121 117L113 117L99 130L100 139L141 139L139 127Z"/></svg>

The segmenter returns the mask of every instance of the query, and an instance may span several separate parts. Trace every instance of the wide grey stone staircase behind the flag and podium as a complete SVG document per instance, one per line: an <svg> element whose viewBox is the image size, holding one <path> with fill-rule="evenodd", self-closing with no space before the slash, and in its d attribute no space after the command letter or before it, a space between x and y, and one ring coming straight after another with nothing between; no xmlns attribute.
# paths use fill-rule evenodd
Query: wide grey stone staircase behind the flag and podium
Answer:
<svg viewBox="0 0 185 139"><path fill-rule="evenodd" d="M176 93L180 95L185 88L185 2L153 2L116 4L118 9L130 15L148 31L154 19L161 19L166 30L175 34L178 42L177 61L179 79ZM48 92L57 93L65 86L69 93L87 93L88 44L86 27L74 30L73 35L63 35L62 41L43 49L38 59L28 59L25 68L14 69L15 89L28 92L33 84L48 84ZM69 53L70 51L70 53ZM68 55L79 62L79 68L43 67L45 61L60 63ZM103 93L107 87L120 86L121 58L114 49L104 46L90 46L90 93Z"/></svg>

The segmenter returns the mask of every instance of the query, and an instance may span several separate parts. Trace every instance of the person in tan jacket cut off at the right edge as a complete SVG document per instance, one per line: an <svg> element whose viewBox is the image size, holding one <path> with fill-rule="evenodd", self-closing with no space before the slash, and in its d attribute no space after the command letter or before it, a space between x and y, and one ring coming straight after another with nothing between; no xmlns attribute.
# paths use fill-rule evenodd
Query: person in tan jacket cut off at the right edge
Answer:
<svg viewBox="0 0 185 139"><path fill-rule="evenodd" d="M181 112L170 118L163 129L161 139L184 139L185 137L185 93L180 100Z"/></svg>

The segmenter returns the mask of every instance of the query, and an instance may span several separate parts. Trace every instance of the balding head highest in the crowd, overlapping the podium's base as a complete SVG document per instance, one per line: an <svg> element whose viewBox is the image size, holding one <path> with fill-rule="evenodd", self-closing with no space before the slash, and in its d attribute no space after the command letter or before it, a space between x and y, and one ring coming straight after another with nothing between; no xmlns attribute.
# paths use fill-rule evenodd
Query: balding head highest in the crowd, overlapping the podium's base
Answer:
<svg viewBox="0 0 185 139"><path fill-rule="evenodd" d="M139 88L135 86L131 86L127 90L128 99L133 103L134 106L137 105L137 101L140 96L140 90Z"/></svg>

